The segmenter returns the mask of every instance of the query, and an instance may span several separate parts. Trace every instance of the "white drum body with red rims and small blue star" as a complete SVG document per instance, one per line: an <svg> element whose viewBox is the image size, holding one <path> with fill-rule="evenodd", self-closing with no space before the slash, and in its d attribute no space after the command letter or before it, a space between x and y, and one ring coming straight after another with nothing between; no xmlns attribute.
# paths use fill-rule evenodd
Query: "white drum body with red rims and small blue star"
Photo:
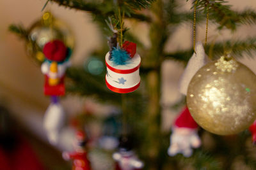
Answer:
<svg viewBox="0 0 256 170"><path fill-rule="evenodd" d="M106 54L106 85L117 93L129 93L140 87L140 55L136 53L125 65L115 65Z"/></svg>

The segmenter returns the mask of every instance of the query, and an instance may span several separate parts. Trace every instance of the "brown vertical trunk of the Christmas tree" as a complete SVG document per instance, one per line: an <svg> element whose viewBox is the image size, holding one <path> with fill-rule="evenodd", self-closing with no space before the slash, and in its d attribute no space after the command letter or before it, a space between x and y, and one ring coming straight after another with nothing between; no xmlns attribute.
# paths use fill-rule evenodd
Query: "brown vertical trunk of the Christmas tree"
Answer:
<svg viewBox="0 0 256 170"><path fill-rule="evenodd" d="M143 64L151 71L147 74L147 144L145 152L149 157L149 169L161 169L162 165L157 161L161 148L161 61L164 43L166 42L166 24L163 20L163 2L157 0L152 4L153 21L150 25L151 48Z"/></svg>

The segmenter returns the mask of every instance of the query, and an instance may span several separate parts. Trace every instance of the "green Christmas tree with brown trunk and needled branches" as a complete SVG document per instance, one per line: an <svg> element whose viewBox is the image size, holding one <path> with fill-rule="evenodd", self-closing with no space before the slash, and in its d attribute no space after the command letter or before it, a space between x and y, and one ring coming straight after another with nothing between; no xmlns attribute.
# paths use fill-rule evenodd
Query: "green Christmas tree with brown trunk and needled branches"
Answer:
<svg viewBox="0 0 256 170"><path fill-rule="evenodd" d="M255 24L256 12L247 8L243 11L232 9L232 2L223 0L209 1L197 0L180 2L175 0L117 0L117 1L86 1L86 0L48 0L49 3L57 3L73 10L88 11L93 17L93 22L99 25L102 36L113 36L109 29L109 22L118 27L118 36L122 34L125 39L137 44L138 52L142 57L140 76L141 87L131 94L115 94L105 85L105 73L92 74L84 71L82 67L70 67L67 69L68 95L79 94L81 96L97 97L100 102L115 104L122 108L122 126L131 133L136 147L134 150L144 161L145 169L254 169L256 167L255 151L250 141L250 132L244 131L236 136L218 136L200 129L202 147L195 150L189 158L182 155L169 157L167 154L170 145L170 133L162 131L163 124L161 104L161 82L163 63L166 60L177 60L185 64L193 54L193 46L186 50L168 52L166 44L171 41L175 30L186 23L191 25L189 30L193 32L192 22L196 18L195 25L205 24L207 15L211 24L218 25L218 32L236 32L242 25L248 27ZM182 4L191 4L190 11L182 10ZM195 7L195 11L193 10ZM194 16L195 15L195 16ZM141 43L136 34L131 34L129 27L124 22L139 22L149 28L148 39L150 46ZM195 18L194 18L195 17ZM29 39L29 30L22 25L10 25L13 31L21 38ZM188 38L191 41L192 38ZM245 55L253 57L256 50L256 37L246 39L232 39L214 41L209 38L209 43L204 46L205 53L212 60L219 59L221 55L231 52L231 55L239 59ZM95 51L93 56L104 61L108 52L108 43ZM192 41L191 41L192 42ZM36 47L35 47L36 48ZM185 105L185 97L172 109L180 111ZM88 120L89 121L89 120Z"/></svg>

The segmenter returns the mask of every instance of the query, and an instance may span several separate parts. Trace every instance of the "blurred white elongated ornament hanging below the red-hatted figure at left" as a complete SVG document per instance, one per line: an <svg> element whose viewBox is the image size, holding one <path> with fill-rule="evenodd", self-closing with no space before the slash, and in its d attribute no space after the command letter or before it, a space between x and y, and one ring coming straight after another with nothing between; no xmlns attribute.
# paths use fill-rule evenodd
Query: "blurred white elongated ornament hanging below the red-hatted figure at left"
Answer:
<svg viewBox="0 0 256 170"><path fill-rule="evenodd" d="M52 145L58 143L60 130L65 122L65 113L59 103L51 103L44 116L44 129Z"/></svg>

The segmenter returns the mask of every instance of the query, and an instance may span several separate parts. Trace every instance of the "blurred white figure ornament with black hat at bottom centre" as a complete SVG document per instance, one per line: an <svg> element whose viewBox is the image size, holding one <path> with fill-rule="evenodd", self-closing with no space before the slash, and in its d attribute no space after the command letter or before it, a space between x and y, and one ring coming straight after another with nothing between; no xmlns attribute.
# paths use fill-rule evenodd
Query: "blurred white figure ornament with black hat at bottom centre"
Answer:
<svg viewBox="0 0 256 170"><path fill-rule="evenodd" d="M132 151L132 142L127 136L120 138L119 151L113 153L113 159L116 162L116 170L139 170L144 167L143 162Z"/></svg>

